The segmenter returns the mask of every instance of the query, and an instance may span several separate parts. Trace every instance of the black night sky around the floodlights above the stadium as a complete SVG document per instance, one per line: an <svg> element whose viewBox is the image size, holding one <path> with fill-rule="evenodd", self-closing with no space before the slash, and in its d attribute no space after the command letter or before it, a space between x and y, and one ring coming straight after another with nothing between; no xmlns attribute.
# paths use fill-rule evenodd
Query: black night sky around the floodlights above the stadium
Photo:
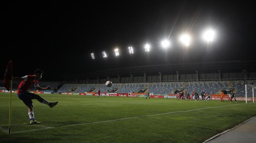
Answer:
<svg viewBox="0 0 256 143"><path fill-rule="evenodd" d="M255 6L242 2L2 3L2 79L10 60L14 77L39 68L45 71L42 80L119 67L256 60ZM207 28L216 31L211 43L201 38ZM183 33L191 36L188 47L179 41ZM161 47L163 39L170 40L169 48ZM146 43L151 44L149 53Z"/></svg>

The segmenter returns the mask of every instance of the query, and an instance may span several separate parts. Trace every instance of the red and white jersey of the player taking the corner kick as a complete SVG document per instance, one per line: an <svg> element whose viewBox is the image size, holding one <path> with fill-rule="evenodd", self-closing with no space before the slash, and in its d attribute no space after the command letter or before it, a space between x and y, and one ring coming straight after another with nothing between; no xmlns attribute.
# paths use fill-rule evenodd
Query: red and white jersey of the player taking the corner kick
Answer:
<svg viewBox="0 0 256 143"><path fill-rule="evenodd" d="M20 94L21 92L28 92L28 89L31 85L34 85L35 87L39 87L38 80L34 79L34 75L27 75L22 77L23 81L18 86L18 92L17 94Z"/></svg>

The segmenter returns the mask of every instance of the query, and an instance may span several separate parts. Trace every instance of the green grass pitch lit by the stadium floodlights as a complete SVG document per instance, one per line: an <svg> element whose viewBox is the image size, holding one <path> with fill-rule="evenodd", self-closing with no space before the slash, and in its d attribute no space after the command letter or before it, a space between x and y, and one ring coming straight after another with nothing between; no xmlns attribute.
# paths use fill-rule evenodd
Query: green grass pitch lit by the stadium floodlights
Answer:
<svg viewBox="0 0 256 143"><path fill-rule="evenodd" d="M50 108L33 100L35 120L13 94L8 135L9 93L0 93L0 142L203 142L256 115L245 101L40 94Z"/></svg>

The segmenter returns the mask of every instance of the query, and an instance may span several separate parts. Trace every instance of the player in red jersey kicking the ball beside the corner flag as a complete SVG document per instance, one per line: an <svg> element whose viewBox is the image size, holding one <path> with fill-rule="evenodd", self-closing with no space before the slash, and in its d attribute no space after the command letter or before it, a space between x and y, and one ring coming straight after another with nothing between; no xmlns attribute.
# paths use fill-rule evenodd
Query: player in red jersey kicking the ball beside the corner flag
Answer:
<svg viewBox="0 0 256 143"><path fill-rule="evenodd" d="M51 89L50 86L47 86L46 88L39 87L38 80L42 78L42 74L44 72L42 70L35 70L34 75L27 75L24 77L14 77L13 79L21 79L22 82L18 86L18 98L24 102L26 106L28 106L28 116L30 118L30 124L40 124L41 122L38 122L34 118L34 111L33 111L33 102L32 99L36 99L39 102L46 104L50 106L51 108L55 105L57 105L57 102L49 102L39 95L36 95L34 93L28 92L28 89L31 85L34 85L37 90L48 90Z"/></svg>

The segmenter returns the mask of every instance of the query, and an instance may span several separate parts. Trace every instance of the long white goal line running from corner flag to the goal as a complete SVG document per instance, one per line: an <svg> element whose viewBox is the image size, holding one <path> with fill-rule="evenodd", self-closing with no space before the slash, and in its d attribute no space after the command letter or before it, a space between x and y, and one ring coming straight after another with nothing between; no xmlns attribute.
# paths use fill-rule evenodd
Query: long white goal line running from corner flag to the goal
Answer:
<svg viewBox="0 0 256 143"><path fill-rule="evenodd" d="M241 103L241 104L246 104L246 103ZM98 121L98 122L91 122L91 123L72 124L72 125L65 125L65 126L60 126L60 127L56 127L56 128L68 127L68 126L77 126L77 125L95 124L95 123L114 122L114 121L119 121L119 120L135 119L135 118L150 117L150 116L159 116L159 115L165 115L165 114L170 114L170 113L189 112L189 111L195 111L195 110L200 110L200 109L208 109L208 108L216 108L216 107L224 107L224 106L233 106L233 105L240 105L240 104L231 104L231 105L223 105L223 106L206 107L206 108L199 108L199 109L186 110L186 111L175 111L175 112L168 112L168 113L161 113L161 114L154 114L154 115L145 115L145 116L139 116L139 117L122 118L122 119L116 119L116 120ZM55 127L47 127L47 126L45 126L45 127L46 128L18 131L18 132L14 132L14 133L30 132L30 131L37 131L37 130L44 130L44 129L53 129L53 128L55 128Z"/></svg>

